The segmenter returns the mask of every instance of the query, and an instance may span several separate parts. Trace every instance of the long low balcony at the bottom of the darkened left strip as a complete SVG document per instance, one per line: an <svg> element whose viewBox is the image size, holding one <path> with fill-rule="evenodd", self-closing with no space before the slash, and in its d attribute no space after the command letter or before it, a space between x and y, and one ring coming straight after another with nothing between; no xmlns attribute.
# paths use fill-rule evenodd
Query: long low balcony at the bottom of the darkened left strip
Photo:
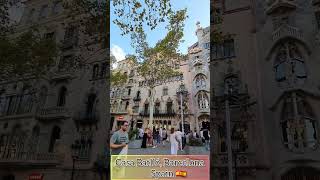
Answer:
<svg viewBox="0 0 320 180"><path fill-rule="evenodd" d="M55 166L60 164L62 159L57 153L3 152L0 154L0 166Z"/></svg>

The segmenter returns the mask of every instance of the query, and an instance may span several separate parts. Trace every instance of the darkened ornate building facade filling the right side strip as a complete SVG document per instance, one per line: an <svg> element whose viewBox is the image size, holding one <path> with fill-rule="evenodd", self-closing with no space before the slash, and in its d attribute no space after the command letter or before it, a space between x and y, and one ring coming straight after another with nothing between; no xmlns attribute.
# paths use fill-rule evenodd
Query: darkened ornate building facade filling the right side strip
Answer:
<svg viewBox="0 0 320 180"><path fill-rule="evenodd" d="M234 177L319 179L319 3L213 6L223 21L211 23L227 34L211 47L214 174L227 179L228 111Z"/></svg>

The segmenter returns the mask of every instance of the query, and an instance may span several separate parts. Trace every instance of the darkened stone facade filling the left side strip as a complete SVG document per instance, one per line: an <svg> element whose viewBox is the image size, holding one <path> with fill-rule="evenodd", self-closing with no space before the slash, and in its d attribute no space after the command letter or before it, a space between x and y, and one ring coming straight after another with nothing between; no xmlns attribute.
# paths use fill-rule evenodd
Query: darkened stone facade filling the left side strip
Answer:
<svg viewBox="0 0 320 180"><path fill-rule="evenodd" d="M61 48L45 75L0 82L0 179L70 179L73 156L78 157L74 179L100 179L95 162L107 142L108 56L76 22L59 1L25 2L15 33L38 25L40 34ZM81 48L87 40L95 53ZM83 66L70 65L79 55Z"/></svg>

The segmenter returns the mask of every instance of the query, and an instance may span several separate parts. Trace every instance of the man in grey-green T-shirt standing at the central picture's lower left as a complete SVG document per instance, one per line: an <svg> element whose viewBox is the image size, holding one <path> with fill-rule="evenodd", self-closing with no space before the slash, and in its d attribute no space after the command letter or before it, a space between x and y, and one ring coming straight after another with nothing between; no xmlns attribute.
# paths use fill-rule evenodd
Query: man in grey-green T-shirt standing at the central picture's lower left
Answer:
<svg viewBox="0 0 320 180"><path fill-rule="evenodd" d="M127 121L120 122L120 129L113 133L110 139L110 150L112 155L118 155L121 153L129 143L128 129L129 123ZM121 155L126 155L122 154Z"/></svg>

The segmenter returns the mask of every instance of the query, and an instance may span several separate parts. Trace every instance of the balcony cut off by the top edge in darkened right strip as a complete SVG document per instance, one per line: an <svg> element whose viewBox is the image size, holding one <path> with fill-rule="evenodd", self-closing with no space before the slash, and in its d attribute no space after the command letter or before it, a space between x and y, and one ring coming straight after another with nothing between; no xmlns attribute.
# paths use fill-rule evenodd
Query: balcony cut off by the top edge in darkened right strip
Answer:
<svg viewBox="0 0 320 180"><path fill-rule="evenodd" d="M266 13L268 15L292 11L297 8L294 0L270 0Z"/></svg>

